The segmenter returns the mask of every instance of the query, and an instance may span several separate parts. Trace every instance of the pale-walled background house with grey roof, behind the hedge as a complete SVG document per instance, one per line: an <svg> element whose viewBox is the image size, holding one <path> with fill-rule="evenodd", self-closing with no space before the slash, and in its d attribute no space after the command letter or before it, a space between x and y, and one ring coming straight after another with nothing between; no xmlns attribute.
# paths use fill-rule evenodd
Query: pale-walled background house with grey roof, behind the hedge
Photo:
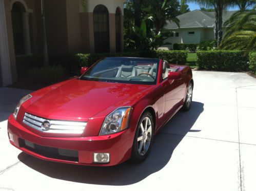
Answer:
<svg viewBox="0 0 256 191"><path fill-rule="evenodd" d="M223 12L223 23L235 11ZM173 35L166 41L168 43L200 43L203 40L214 39L214 20L215 12L206 12L194 10L178 16L180 28L173 22L168 23L165 28L174 31ZM223 34L225 28L223 28ZM162 47L162 49L172 49L171 46Z"/></svg>

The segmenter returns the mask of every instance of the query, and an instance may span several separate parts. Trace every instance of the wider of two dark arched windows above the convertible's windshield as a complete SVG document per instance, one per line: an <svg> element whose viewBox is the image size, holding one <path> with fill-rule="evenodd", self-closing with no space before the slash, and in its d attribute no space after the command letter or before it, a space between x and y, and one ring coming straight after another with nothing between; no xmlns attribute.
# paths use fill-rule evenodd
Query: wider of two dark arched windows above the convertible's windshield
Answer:
<svg viewBox="0 0 256 191"><path fill-rule="evenodd" d="M93 30L95 53L109 52L109 16L104 5L93 10Z"/></svg>

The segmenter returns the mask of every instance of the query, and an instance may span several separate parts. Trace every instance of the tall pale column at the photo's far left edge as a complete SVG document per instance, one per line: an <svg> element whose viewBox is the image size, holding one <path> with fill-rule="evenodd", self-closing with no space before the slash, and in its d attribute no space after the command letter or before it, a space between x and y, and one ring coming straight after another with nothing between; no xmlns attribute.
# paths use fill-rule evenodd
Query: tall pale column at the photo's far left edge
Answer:
<svg viewBox="0 0 256 191"><path fill-rule="evenodd" d="M5 87L12 84L4 0L0 0L0 67L2 85Z"/></svg>

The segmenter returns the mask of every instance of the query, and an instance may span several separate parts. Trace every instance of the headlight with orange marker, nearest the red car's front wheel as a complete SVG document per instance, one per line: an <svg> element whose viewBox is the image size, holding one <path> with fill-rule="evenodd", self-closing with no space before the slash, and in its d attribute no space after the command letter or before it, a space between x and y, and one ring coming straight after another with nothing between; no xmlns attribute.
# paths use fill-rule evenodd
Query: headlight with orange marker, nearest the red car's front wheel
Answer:
<svg viewBox="0 0 256 191"><path fill-rule="evenodd" d="M131 107L118 108L104 120L100 135L109 135L121 132L128 128Z"/></svg>

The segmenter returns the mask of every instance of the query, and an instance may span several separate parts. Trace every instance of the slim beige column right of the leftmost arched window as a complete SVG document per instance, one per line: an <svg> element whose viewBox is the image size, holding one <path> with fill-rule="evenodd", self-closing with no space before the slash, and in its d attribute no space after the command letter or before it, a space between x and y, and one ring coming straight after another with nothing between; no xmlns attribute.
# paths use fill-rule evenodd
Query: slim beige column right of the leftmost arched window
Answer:
<svg viewBox="0 0 256 191"><path fill-rule="evenodd" d="M31 41L30 41L30 29L29 29L29 13L22 13L22 22L23 22L23 38L24 38L24 49L25 54L31 54Z"/></svg>

